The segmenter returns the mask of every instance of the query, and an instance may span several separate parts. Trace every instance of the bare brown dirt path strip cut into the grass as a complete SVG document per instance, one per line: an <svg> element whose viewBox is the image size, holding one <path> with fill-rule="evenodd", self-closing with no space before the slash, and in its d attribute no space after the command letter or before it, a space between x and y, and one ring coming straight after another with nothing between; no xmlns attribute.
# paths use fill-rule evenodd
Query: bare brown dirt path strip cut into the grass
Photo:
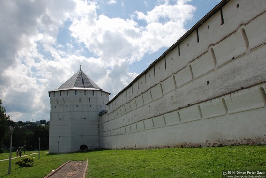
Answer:
<svg viewBox="0 0 266 178"><path fill-rule="evenodd" d="M85 178L87 161L68 161L44 178Z"/></svg>

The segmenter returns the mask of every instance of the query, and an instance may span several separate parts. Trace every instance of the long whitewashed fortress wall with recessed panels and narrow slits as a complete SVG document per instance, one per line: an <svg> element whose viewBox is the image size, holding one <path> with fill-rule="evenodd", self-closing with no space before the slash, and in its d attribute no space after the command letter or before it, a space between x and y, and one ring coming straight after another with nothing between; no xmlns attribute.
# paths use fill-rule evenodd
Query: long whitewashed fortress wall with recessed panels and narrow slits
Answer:
<svg viewBox="0 0 266 178"><path fill-rule="evenodd" d="M266 144L266 3L225 0L108 104L100 147Z"/></svg>

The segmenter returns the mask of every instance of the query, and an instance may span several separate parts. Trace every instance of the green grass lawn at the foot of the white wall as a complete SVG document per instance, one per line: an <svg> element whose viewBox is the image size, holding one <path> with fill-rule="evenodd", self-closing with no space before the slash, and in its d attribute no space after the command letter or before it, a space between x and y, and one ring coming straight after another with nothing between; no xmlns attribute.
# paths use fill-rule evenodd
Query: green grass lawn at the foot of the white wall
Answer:
<svg viewBox="0 0 266 178"><path fill-rule="evenodd" d="M0 162L2 178L43 178L68 160L89 159L87 178L222 178L223 169L266 170L266 146L98 150L83 153L32 155L33 167ZM7 153L4 153L7 154Z"/></svg>

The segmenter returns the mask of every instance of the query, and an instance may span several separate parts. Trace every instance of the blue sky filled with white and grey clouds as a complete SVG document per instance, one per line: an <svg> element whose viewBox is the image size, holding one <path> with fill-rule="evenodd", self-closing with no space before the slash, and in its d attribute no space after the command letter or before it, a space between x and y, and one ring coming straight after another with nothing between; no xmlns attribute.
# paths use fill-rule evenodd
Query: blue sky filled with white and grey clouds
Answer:
<svg viewBox="0 0 266 178"><path fill-rule="evenodd" d="M80 69L113 98L220 0L0 0L0 99L49 120L48 91Z"/></svg>

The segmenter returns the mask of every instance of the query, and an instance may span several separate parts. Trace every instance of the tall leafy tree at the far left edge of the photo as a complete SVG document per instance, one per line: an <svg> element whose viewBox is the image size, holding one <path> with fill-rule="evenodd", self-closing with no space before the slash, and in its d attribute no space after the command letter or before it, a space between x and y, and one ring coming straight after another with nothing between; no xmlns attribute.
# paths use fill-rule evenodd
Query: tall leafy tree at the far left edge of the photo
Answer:
<svg viewBox="0 0 266 178"><path fill-rule="evenodd" d="M9 116L6 115L6 110L2 106L2 100L0 99L0 152L2 151L3 139L8 131L7 122L9 121Z"/></svg>

